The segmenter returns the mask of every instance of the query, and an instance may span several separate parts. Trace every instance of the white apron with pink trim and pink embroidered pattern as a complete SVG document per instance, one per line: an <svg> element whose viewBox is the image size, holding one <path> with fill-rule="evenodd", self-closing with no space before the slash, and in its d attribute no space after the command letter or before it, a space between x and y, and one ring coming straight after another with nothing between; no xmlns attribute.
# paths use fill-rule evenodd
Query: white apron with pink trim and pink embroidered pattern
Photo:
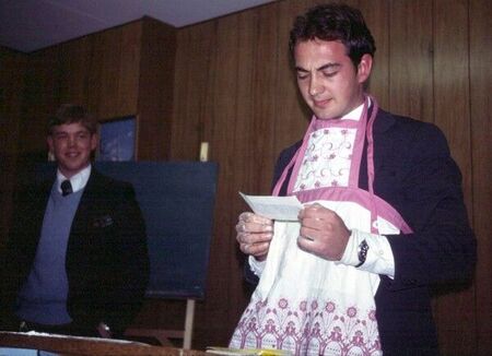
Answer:
<svg viewBox="0 0 492 356"><path fill-rule="evenodd" d="M407 234L411 229L398 212L374 194L372 130L378 108L371 100L368 120L368 98L359 120L313 118L273 194L279 194L293 166L288 194L302 203L317 202L333 210L350 229ZM364 134L368 191L358 187ZM379 276L301 250L298 234L298 222L274 222L259 284L230 346L296 355L382 355L374 301Z"/></svg>

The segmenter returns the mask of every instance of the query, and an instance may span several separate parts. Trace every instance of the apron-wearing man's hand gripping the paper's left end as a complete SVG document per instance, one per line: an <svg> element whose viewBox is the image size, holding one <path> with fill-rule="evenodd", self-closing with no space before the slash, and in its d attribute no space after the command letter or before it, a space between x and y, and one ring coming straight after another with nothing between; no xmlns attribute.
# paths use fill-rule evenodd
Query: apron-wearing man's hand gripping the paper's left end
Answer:
<svg viewBox="0 0 492 356"><path fill-rule="evenodd" d="M258 261L267 258L273 237L273 222L270 218L254 213L243 213L239 215L236 232L236 239L244 253L254 256Z"/></svg>

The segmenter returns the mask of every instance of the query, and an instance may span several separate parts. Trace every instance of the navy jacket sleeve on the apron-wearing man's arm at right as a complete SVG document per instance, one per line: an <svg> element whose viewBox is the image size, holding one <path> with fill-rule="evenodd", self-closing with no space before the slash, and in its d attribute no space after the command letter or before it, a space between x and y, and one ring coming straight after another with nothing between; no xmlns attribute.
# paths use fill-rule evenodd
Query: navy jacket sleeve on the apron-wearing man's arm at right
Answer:
<svg viewBox="0 0 492 356"><path fill-rule="evenodd" d="M408 149L408 150L407 150ZM470 278L476 239L461 191L461 174L446 139L432 124L421 124L395 168L400 197L397 210L410 235L387 236L395 257L394 289Z"/></svg>

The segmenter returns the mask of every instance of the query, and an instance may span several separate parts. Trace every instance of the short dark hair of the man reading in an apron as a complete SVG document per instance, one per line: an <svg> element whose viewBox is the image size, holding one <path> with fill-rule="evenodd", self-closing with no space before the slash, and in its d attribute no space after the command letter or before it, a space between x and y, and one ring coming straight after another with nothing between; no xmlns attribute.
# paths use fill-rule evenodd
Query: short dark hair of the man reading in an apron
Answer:
<svg viewBox="0 0 492 356"><path fill-rule="evenodd" d="M374 57L376 51L373 35L361 11L343 3L317 5L295 19L289 41L292 58L297 43L315 38L340 40L355 68L363 55Z"/></svg>

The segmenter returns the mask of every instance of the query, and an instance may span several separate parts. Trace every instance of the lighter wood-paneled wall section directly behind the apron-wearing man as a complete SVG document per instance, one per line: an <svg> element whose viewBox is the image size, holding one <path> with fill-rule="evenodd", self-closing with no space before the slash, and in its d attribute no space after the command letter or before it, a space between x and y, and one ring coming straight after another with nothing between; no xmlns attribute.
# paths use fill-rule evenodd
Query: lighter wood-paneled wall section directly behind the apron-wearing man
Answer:
<svg viewBox="0 0 492 356"><path fill-rule="evenodd" d="M235 241L237 192L267 194L282 147L302 138L308 114L288 57L294 16L317 3L284 0L178 32L171 158L196 159L210 142L220 164L207 299L195 345L227 342L249 297ZM488 0L359 0L376 39L368 92L397 114L434 122L462 171L479 241L477 276L435 298L443 355L489 355L491 345L492 174Z"/></svg>

